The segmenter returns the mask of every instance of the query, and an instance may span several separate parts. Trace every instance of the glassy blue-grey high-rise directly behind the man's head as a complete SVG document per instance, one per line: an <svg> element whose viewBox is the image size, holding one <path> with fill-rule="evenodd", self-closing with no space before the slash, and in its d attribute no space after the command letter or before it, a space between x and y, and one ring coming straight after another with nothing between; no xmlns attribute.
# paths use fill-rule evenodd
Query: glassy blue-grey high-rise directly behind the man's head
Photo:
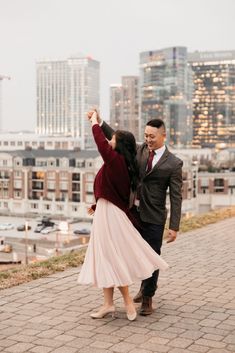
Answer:
<svg viewBox="0 0 235 353"><path fill-rule="evenodd" d="M140 53L140 134L148 120L161 118L167 142L174 147L192 142L192 75L187 48Z"/></svg>

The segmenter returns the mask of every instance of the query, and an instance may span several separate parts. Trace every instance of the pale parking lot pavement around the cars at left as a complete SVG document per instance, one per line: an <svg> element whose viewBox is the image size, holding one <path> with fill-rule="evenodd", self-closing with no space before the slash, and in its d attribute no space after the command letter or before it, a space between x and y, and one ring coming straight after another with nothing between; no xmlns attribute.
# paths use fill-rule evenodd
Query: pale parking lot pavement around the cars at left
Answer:
<svg viewBox="0 0 235 353"><path fill-rule="evenodd" d="M11 244L13 250L8 254L0 252L0 262L16 260L25 262L26 257L29 261L49 258L57 253L78 249L89 241L89 234L75 234L74 231L78 229L89 231L91 223L70 223L51 219L55 223L53 232L36 233L35 229L41 223L41 219L42 217L25 219L23 217L0 216L0 225L6 223L13 225L13 229L0 230L0 239L4 239L6 244ZM17 227L25 224L26 221L31 229L27 232L18 231Z"/></svg>

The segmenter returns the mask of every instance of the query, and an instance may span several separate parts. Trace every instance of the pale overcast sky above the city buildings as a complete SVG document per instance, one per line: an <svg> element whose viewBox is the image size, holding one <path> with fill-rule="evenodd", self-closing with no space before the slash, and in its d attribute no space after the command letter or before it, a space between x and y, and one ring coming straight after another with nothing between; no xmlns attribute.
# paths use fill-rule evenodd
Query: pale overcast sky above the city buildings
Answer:
<svg viewBox="0 0 235 353"><path fill-rule="evenodd" d="M139 53L235 49L234 0L0 0L3 130L36 127L36 62L84 53L100 61L100 111L109 86L138 75Z"/></svg>

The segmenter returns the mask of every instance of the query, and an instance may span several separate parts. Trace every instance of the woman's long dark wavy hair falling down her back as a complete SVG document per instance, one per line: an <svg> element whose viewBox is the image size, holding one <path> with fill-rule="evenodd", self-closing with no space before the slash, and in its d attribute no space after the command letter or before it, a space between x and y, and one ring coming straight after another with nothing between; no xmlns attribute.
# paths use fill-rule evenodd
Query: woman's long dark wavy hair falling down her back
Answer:
<svg viewBox="0 0 235 353"><path fill-rule="evenodd" d="M115 137L115 151L124 156L130 176L131 189L132 191L135 191L137 189L139 179L135 137L131 132L124 130L115 131Z"/></svg>

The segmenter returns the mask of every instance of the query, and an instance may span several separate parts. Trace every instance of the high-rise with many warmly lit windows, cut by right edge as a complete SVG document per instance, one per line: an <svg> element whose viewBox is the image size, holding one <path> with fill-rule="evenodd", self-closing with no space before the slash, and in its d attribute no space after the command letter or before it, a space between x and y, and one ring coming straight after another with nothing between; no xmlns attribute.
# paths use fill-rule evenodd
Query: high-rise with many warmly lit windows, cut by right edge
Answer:
<svg viewBox="0 0 235 353"><path fill-rule="evenodd" d="M188 55L193 71L193 144L235 147L235 50Z"/></svg>

